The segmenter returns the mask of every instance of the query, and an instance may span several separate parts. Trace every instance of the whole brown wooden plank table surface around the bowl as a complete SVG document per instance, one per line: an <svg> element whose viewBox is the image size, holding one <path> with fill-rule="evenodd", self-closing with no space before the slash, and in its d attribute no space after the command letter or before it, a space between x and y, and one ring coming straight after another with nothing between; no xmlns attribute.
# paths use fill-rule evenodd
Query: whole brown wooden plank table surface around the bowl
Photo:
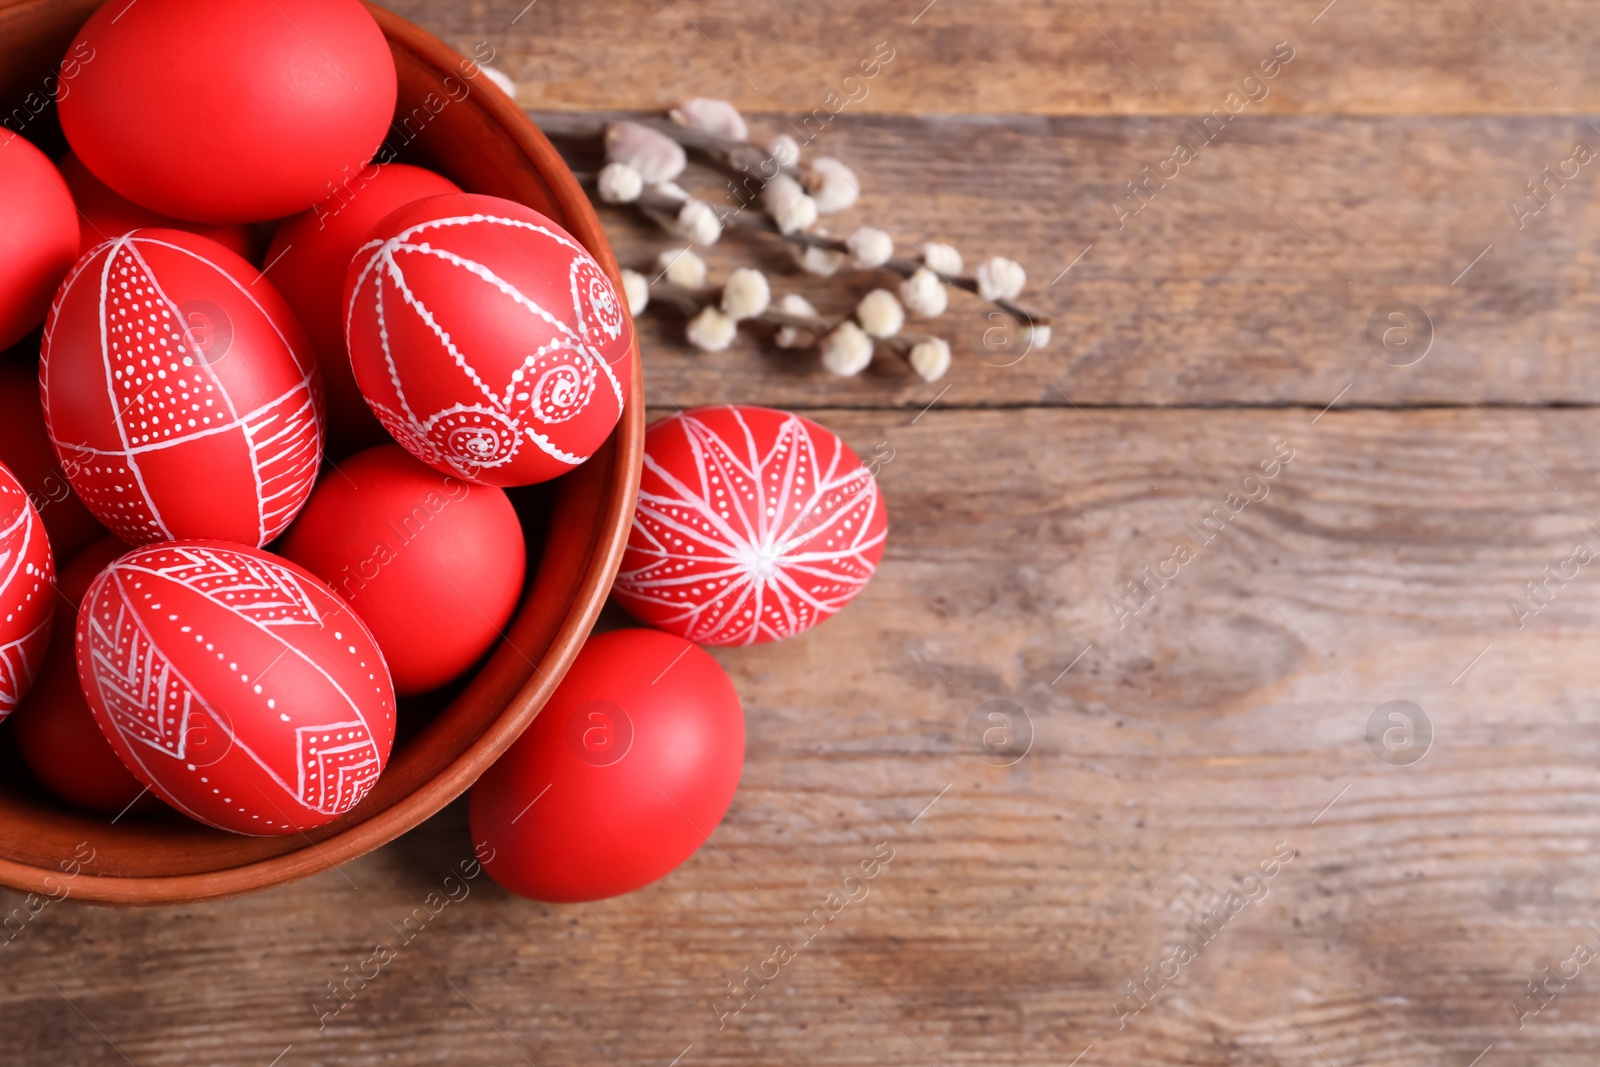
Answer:
<svg viewBox="0 0 1600 1067"><path fill-rule="evenodd" d="M531 110L725 96L763 133L888 42L821 139L869 195L834 226L1019 259L1056 338L997 358L955 299L946 382L840 381L648 315L664 411L808 410L893 456L866 595L717 653L749 757L710 845L616 901L480 878L430 915L456 803L261 896L56 904L0 957L0 1064L1595 1062L1595 5L523 3L394 6ZM666 246L605 218L624 262ZM874 283L715 253L834 310ZM1389 301L1430 320L1421 362L1368 344Z"/></svg>

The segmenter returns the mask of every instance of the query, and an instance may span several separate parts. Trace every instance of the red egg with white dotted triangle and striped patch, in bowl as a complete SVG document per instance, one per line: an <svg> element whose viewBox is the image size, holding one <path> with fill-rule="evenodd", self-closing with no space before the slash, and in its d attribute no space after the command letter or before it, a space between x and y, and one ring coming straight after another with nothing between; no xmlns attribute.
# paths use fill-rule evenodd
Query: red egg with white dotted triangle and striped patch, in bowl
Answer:
<svg viewBox="0 0 1600 1067"><path fill-rule="evenodd" d="M262 545L310 494L310 346L272 283L216 242L134 230L83 256L50 309L38 378L72 488L130 544Z"/></svg>

